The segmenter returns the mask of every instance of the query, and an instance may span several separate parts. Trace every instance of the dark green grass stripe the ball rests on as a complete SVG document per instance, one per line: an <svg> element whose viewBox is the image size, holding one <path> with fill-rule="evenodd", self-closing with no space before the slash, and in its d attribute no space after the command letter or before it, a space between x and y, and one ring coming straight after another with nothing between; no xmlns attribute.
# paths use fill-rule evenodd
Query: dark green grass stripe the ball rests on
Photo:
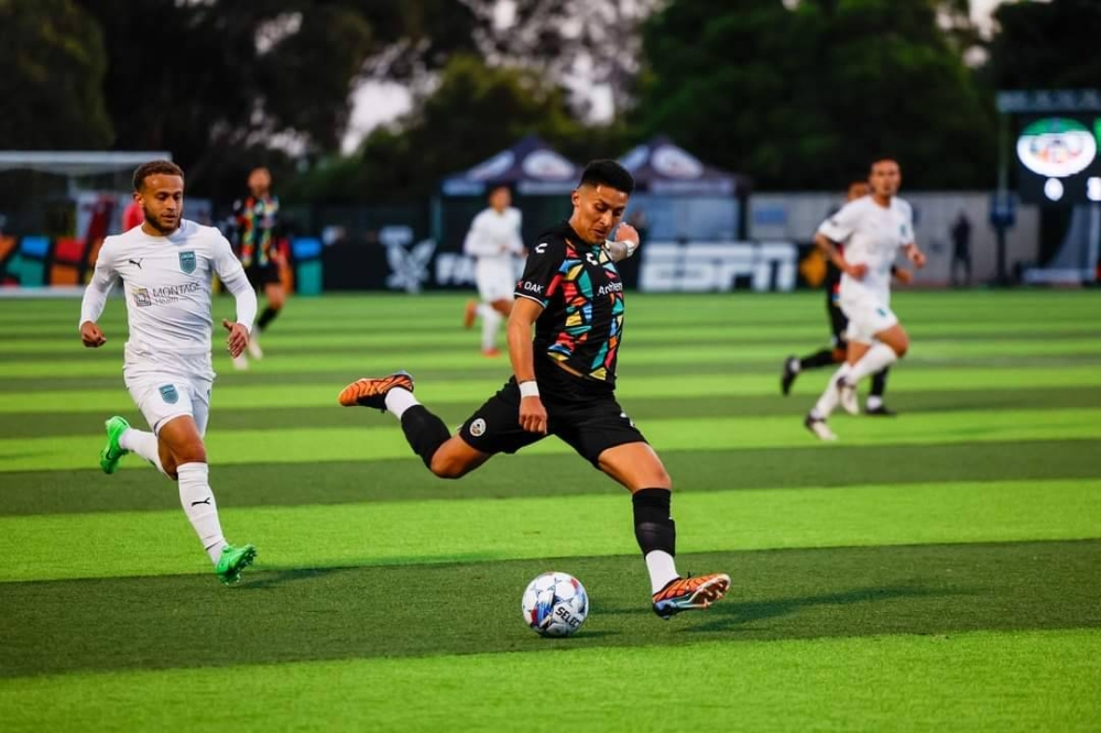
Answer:
<svg viewBox="0 0 1101 733"><path fill-rule="evenodd" d="M260 571L230 590L197 576L18 583L0 595L0 632L11 639L0 677L1101 627L1097 540L683 554L679 560L723 568L733 583L707 613L669 623L650 609L636 556ZM527 581L548 568L577 576L592 609L581 632L557 644L535 636L520 613ZM203 628L232 630L233 643L197 633ZM661 658L658 650L652 655Z"/></svg>

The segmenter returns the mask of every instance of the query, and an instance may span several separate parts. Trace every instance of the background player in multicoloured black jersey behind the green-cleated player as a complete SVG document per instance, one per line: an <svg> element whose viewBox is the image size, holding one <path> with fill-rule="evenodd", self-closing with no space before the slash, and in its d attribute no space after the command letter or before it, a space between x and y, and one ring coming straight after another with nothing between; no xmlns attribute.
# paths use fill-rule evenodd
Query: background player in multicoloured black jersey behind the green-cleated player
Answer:
<svg viewBox="0 0 1101 733"><path fill-rule="evenodd" d="M279 251L279 198L272 192L272 176L268 168L253 168L249 173L249 196L233 201L235 240L238 256L257 292L268 298L255 333L249 340L249 355L263 359L260 333L275 320L286 303L283 289L283 254ZM233 359L233 366L248 369L249 360L242 353Z"/></svg>

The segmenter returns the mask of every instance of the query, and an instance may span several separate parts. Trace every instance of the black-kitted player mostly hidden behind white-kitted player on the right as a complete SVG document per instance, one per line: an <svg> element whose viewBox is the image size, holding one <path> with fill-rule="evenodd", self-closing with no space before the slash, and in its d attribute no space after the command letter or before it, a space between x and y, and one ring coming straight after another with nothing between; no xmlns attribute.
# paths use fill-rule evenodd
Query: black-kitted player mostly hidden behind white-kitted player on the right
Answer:
<svg viewBox="0 0 1101 733"><path fill-rule="evenodd" d="M858 198L868 196L869 192L868 182L858 180L849 186L849 192L846 196L846 201L854 201ZM833 211L830 216L833 216L837 211ZM841 306L838 304L840 299L841 291L841 271L838 270L833 261L827 256L826 251L818 244L819 240L816 238L815 243L818 245L818 251L821 252L822 256L826 259L826 280L822 283L826 288L826 313L829 316L830 330L833 333L833 346L829 349L820 349L813 354L803 357L788 357L784 361L784 371L780 378L780 387L784 395L788 395L792 392L792 385L795 384L795 378L808 369L821 369L822 366L828 366L830 364L840 364L846 360L846 354L848 353L849 344L844 340L844 330L849 327L849 319L846 318L844 311L841 310ZM844 250L842 244L837 245L838 252L843 256ZM908 270L898 267L895 265L891 266L891 274L903 285L909 284L913 280L913 275ZM872 375L872 389L868 395L868 402L864 405L864 413L866 415L875 416L891 416L894 415L894 411L887 408L883 404L883 393L887 387L887 372L890 369L884 369Z"/></svg>

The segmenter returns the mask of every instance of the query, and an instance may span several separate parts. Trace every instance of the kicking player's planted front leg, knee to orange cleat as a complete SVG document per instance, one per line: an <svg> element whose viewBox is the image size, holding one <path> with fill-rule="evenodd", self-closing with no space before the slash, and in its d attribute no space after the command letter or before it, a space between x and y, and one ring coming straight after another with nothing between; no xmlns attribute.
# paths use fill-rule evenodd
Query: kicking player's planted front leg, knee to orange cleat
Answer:
<svg viewBox="0 0 1101 733"><path fill-rule="evenodd" d="M721 599L730 588L730 576L715 572L684 578L677 572L673 480L654 449L641 441L615 446L600 453L598 466L631 492L634 536L650 572L654 613L669 619Z"/></svg>

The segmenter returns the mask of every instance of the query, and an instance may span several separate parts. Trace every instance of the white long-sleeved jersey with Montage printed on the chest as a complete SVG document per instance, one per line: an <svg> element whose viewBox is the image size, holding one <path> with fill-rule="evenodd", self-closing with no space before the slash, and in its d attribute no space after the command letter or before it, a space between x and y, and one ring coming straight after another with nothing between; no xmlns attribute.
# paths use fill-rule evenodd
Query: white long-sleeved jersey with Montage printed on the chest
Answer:
<svg viewBox="0 0 1101 733"><path fill-rule="evenodd" d="M108 237L84 294L80 322L99 319L115 281L121 277L130 325L128 363L185 362L209 370L214 273L237 299L237 322L251 331L257 295L229 242L214 227L185 219L167 237L151 237L141 227Z"/></svg>

